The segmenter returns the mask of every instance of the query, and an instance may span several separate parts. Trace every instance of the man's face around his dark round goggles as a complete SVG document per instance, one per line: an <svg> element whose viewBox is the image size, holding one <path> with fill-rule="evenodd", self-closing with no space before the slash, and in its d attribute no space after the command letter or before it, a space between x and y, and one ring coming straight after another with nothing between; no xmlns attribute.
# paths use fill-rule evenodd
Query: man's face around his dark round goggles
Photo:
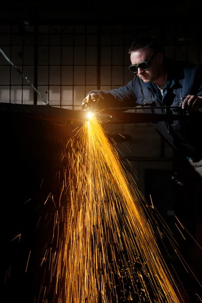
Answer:
<svg viewBox="0 0 202 303"><path fill-rule="evenodd" d="M150 59L154 55L154 52L148 50L144 52L132 52L130 54L130 60L132 64L139 64L142 61ZM149 61L149 68L147 70L141 70L138 68L137 76L144 82L149 83L155 81L161 76L163 54L158 53L153 59Z"/></svg>

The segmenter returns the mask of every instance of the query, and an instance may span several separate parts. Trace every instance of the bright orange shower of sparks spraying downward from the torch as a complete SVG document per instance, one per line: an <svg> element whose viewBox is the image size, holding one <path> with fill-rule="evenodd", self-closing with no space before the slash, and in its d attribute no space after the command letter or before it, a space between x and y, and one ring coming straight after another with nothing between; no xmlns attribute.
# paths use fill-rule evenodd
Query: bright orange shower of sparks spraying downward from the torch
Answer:
<svg viewBox="0 0 202 303"><path fill-rule="evenodd" d="M67 150L54 217L57 249L45 249L41 261L56 285L51 302L185 302L157 245L149 207L95 117ZM41 288L43 301L46 293Z"/></svg>

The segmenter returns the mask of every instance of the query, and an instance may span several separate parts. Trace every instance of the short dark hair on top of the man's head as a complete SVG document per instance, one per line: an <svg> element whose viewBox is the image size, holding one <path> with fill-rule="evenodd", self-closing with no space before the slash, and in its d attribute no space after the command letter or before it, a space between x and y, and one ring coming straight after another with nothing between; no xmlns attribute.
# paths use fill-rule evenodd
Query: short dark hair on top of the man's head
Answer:
<svg viewBox="0 0 202 303"><path fill-rule="evenodd" d="M147 49L154 51L155 53L163 53L163 46L153 36L144 36L134 41L128 50L128 54L132 52L145 52Z"/></svg>

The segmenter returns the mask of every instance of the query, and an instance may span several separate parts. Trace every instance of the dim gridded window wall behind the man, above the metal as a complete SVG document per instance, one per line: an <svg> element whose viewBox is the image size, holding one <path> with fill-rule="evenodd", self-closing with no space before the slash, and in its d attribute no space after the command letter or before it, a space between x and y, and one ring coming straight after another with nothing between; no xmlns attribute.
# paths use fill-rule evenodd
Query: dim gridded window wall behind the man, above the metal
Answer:
<svg viewBox="0 0 202 303"><path fill-rule="evenodd" d="M130 81L133 78L128 70L131 43L143 34L159 37L160 32L158 27L142 32L138 26L31 26L22 23L0 26L0 47L51 106L78 110L90 90L111 90ZM176 39L174 26L168 26L164 33L167 33L164 35L167 57L202 63L199 33L188 42ZM40 96L2 54L0 100L42 104Z"/></svg>

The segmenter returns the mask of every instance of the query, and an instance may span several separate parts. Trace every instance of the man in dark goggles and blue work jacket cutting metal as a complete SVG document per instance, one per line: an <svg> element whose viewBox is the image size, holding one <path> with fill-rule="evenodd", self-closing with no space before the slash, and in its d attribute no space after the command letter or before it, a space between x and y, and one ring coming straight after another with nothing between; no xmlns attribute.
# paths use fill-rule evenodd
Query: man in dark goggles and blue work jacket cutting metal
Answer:
<svg viewBox="0 0 202 303"><path fill-rule="evenodd" d="M198 112L202 115L202 71L201 67L186 62L164 60L162 46L154 37L142 37L129 49L134 79L125 86L111 91L91 91L83 100L87 105L93 100L93 107L162 107L146 110L145 113L163 114L169 112L163 107L177 107L175 114L183 111ZM96 101L98 100L98 103ZM180 107L181 106L181 107ZM194 162L202 159L202 144L199 144L195 123L160 122L157 131L180 154Z"/></svg>

